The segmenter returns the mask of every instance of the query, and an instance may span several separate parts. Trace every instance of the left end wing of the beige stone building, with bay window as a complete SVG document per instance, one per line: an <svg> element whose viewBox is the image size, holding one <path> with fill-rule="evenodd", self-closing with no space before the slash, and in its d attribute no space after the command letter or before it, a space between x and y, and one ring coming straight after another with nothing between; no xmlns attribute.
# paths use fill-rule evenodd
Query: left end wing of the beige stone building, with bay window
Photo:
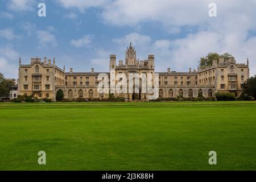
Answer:
<svg viewBox="0 0 256 182"><path fill-rule="evenodd" d="M19 60L18 95L32 95L38 98L55 98L56 85L63 85L65 70L44 57L32 58L30 64L21 64Z"/></svg>

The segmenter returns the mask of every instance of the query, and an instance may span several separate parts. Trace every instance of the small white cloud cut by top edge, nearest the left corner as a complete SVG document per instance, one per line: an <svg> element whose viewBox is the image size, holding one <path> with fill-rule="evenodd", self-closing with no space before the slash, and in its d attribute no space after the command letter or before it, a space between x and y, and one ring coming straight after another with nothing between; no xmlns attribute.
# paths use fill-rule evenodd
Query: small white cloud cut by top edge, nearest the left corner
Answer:
<svg viewBox="0 0 256 182"><path fill-rule="evenodd" d="M31 11L34 10L34 0L10 0L7 7L15 11Z"/></svg>

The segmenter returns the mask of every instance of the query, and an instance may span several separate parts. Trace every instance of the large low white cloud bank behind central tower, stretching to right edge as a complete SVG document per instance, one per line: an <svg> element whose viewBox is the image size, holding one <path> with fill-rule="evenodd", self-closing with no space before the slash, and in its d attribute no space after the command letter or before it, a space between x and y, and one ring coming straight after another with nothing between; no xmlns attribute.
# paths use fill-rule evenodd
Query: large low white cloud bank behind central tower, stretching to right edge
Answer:
<svg viewBox="0 0 256 182"><path fill-rule="evenodd" d="M209 52L220 54L229 52L236 57L237 63L246 63L246 59L249 57L249 60L251 60L250 73L251 75L256 74L256 64L253 61L256 57L256 37L246 39L239 34L218 34L213 31L201 31L180 39L152 41L146 35L133 32L113 40L119 47L115 53L118 56L117 59L122 59L125 56L124 45L126 46L129 43L131 37L138 40L133 44L137 49L138 58L146 59L149 54L155 55L157 72L167 71L167 68L171 68L172 71L187 72L188 68L197 69L200 57L206 56ZM139 40L142 40L142 42ZM103 59L96 59L95 61L104 62Z"/></svg>

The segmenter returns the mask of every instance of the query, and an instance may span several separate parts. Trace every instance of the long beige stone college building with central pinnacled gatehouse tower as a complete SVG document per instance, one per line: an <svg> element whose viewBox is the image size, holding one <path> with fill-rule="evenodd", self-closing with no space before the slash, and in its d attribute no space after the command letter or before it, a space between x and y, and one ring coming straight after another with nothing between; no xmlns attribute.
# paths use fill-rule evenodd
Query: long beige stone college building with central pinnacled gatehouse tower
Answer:
<svg viewBox="0 0 256 182"><path fill-rule="evenodd" d="M125 61L119 60L117 64L116 56L110 55L110 72L105 73L111 78L111 71L115 75L123 73L129 77L129 73L152 73L153 80L155 73L159 75L159 97L214 97L216 92L233 92L236 96L242 93L243 82L249 78L249 61L246 64L238 64L234 57L225 60L214 60L211 67L204 69L189 68L188 72L175 72L170 68L167 72L155 72L155 57L148 55L147 60L137 59L136 50L131 46L127 47ZM61 89L64 98L76 100L78 98L108 98L109 93L98 93L99 72L69 72L53 64L51 60L44 57L41 59L31 59L30 64L23 65L19 60L19 84L18 94L34 94L39 98L55 98L57 90ZM115 84L120 80L115 81ZM116 97L123 97L126 100L148 100L148 94L141 92L142 80L139 80L139 92L137 93L115 93Z"/></svg>

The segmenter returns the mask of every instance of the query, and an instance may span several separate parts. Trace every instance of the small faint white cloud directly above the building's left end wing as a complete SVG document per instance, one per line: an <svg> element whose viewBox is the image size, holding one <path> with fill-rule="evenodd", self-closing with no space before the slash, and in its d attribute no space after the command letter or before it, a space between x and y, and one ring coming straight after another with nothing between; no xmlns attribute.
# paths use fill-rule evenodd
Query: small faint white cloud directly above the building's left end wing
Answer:
<svg viewBox="0 0 256 182"><path fill-rule="evenodd" d="M55 38L55 35L42 30L36 31L36 35L39 41L39 47L57 46L57 40Z"/></svg>

